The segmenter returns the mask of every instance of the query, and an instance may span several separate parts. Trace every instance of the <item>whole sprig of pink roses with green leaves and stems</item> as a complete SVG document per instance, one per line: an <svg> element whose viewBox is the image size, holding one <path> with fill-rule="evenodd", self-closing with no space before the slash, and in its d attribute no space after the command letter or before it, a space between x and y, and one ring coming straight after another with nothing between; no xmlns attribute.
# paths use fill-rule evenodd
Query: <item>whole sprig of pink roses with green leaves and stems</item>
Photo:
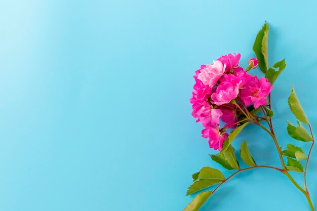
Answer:
<svg viewBox="0 0 317 211"><path fill-rule="evenodd" d="M227 178L212 167L203 167L200 172L192 175L193 184L189 186L187 195L201 191L184 209L185 211L199 210L204 202L225 182L240 172L253 168L271 168L284 174L298 190L305 195L311 210L314 210L307 189L306 174L314 139L310 123L295 94L294 88L288 99L289 107L297 124L288 122L287 132L295 140L311 144L308 153L301 148L288 144L282 150L275 136L272 126L273 111L271 110L270 92L274 81L284 70L285 60L276 62L268 67L267 38L268 24L265 23L256 36L253 51L256 58L248 62L248 67L240 66L240 54L221 56L213 64L202 65L195 71L192 97L192 116L204 126L202 137L208 139L209 147L220 152L211 155L212 160L222 165L226 170L235 170ZM257 68L265 74L258 78L249 74L250 70ZM272 138L281 160L281 167L258 164L244 141L240 147L240 156L243 162L250 167L242 168L236 160L235 149L231 146L234 138L248 125L256 124ZM309 132L308 132L309 131ZM285 162L285 160L287 162ZM304 185L300 186L289 174L290 171L301 173ZM214 186L214 189L203 191Z"/></svg>

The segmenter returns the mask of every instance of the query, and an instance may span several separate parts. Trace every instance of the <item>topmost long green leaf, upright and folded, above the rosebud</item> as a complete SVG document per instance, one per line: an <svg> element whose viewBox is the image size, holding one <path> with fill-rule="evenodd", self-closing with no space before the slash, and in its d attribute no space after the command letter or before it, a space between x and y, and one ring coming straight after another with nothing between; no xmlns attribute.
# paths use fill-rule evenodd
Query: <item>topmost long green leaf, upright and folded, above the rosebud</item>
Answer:
<svg viewBox="0 0 317 211"><path fill-rule="evenodd" d="M258 59L259 68L262 72L266 72L267 70L267 37L268 37L268 24L265 22L262 29L257 34L254 45L253 51Z"/></svg>

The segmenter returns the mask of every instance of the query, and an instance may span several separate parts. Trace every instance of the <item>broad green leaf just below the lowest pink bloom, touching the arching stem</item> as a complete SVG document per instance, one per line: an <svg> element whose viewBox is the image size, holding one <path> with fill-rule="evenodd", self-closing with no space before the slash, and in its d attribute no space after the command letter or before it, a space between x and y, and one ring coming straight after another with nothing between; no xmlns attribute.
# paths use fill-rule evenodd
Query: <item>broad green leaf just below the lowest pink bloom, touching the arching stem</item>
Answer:
<svg viewBox="0 0 317 211"><path fill-rule="evenodd" d="M231 145L228 147L228 150L224 151L223 153L211 155L211 159L222 165L227 170L240 168L239 162L237 162L234 155L234 148Z"/></svg>

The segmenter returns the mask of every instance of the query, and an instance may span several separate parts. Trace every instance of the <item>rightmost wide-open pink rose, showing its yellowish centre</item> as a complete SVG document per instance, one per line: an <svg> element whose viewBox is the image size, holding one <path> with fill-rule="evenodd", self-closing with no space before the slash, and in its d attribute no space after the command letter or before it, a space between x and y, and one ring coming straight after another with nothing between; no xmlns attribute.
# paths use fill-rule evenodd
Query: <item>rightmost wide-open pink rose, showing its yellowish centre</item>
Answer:
<svg viewBox="0 0 317 211"><path fill-rule="evenodd" d="M244 89L241 90L240 98L246 106L254 103L254 108L258 108L261 105L266 105L266 98L272 89L273 87L267 78L261 77L258 80L257 76L253 76L251 80L246 82Z"/></svg>

